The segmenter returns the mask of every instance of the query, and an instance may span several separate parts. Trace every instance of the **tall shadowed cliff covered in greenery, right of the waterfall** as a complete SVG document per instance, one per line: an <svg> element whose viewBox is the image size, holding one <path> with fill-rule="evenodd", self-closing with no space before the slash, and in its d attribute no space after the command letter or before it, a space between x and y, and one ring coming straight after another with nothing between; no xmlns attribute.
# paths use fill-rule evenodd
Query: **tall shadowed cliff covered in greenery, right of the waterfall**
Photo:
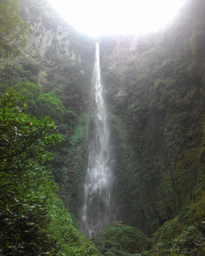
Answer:
<svg viewBox="0 0 205 256"><path fill-rule="evenodd" d="M203 10L187 1L155 34L101 42L119 218L149 235L203 194L196 199L204 186Z"/></svg>

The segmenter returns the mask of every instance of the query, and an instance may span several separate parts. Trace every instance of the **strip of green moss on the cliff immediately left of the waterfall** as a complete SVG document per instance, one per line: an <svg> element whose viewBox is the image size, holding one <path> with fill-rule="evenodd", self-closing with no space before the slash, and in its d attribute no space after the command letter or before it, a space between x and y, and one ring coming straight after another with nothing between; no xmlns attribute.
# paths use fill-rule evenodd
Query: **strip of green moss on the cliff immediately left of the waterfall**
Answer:
<svg viewBox="0 0 205 256"><path fill-rule="evenodd" d="M69 142L64 145L62 168L56 168L55 179L60 186L60 197L66 207L78 216L78 209L83 196L83 181L86 175L87 141L88 141L89 114L83 113Z"/></svg>

